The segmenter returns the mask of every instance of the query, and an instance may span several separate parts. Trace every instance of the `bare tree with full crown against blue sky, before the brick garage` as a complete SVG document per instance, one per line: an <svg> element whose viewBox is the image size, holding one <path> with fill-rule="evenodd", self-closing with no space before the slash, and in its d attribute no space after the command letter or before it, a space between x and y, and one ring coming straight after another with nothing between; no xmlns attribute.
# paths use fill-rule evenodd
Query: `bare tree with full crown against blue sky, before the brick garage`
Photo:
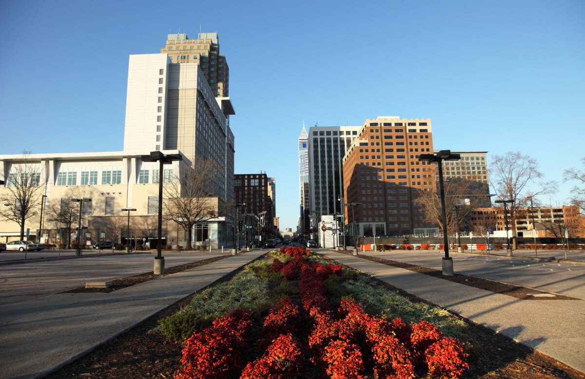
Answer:
<svg viewBox="0 0 585 379"><path fill-rule="evenodd" d="M541 181L536 185L536 190L530 190L529 185L542 178L542 173L535 159L519 152L494 155L489 173L498 199L512 201L506 208L512 230L512 248L516 249L516 221L521 219L522 209L528 205L528 199L556 191L557 184L554 181Z"/></svg>

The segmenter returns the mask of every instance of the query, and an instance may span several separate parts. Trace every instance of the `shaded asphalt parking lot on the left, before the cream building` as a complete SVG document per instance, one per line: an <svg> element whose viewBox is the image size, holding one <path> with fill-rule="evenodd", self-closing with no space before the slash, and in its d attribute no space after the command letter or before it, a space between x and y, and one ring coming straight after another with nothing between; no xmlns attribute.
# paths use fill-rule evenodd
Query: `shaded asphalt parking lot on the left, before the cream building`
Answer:
<svg viewBox="0 0 585 379"><path fill-rule="evenodd" d="M42 253L42 251L41 251ZM221 256L221 250L164 251L165 267ZM153 270L155 253L99 254L0 266L0 306ZM2 312L0 312L1 314Z"/></svg>

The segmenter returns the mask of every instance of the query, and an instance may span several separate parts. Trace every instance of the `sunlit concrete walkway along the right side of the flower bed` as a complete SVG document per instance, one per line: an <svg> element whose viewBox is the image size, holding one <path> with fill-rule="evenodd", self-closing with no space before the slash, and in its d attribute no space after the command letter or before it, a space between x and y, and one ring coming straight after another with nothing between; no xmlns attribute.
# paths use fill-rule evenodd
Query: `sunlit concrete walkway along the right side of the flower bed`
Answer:
<svg viewBox="0 0 585 379"><path fill-rule="evenodd" d="M520 300L336 251L322 254L585 372L585 300Z"/></svg>

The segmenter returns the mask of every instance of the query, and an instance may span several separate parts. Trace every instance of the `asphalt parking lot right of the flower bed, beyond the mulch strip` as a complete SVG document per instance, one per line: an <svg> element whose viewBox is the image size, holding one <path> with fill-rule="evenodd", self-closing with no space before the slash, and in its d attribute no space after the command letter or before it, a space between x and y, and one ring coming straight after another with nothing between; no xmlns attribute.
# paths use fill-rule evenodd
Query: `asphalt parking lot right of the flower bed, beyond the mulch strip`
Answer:
<svg viewBox="0 0 585 379"><path fill-rule="evenodd" d="M534 251L533 251L534 253ZM374 257L441 270L442 251L365 251ZM521 287L585 299L585 265L581 262L550 263L526 257L478 256L453 253L456 274L470 275Z"/></svg>

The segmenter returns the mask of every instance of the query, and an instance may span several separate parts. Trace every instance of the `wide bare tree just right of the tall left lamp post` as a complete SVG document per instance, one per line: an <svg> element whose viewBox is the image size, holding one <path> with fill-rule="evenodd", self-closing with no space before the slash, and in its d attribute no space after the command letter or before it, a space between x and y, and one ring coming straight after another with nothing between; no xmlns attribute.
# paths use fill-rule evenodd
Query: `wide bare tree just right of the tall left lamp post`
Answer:
<svg viewBox="0 0 585 379"><path fill-rule="evenodd" d="M191 232L197 223L216 218L218 207L211 197L216 194L218 170L212 160L196 157L191 165L181 163L174 180L163 186L163 218L173 220L187 235L185 250L191 250Z"/></svg>

